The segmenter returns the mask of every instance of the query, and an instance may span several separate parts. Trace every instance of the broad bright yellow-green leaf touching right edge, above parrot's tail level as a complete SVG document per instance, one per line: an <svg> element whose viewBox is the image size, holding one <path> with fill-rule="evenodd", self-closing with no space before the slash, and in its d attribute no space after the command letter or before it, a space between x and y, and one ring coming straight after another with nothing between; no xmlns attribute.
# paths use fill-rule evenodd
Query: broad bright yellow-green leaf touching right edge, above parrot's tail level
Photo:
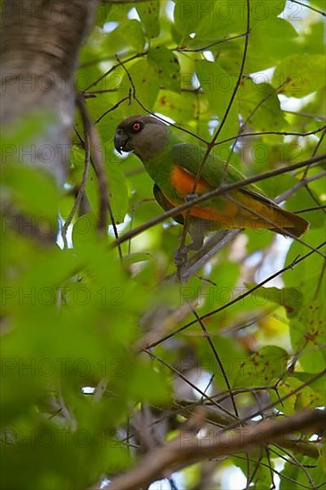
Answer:
<svg viewBox="0 0 326 490"><path fill-rule="evenodd" d="M288 97L305 97L325 85L325 62L321 54L289 56L276 67L273 86Z"/></svg>

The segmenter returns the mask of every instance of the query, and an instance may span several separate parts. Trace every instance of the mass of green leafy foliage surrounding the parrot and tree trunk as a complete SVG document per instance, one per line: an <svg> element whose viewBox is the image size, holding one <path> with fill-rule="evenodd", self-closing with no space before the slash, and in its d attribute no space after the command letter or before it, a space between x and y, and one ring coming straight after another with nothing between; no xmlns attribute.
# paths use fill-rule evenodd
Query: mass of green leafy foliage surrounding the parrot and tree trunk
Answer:
<svg viewBox="0 0 326 490"><path fill-rule="evenodd" d="M69 227L60 246L45 247L4 217L5 488L86 488L114 478L150 443L163 445L192 424L200 406L207 412L199 429L208 433L252 414L273 419L325 406L325 160L309 164L325 153L323 6L98 5L75 85L101 141L111 211L104 238L80 111L64 192L18 158L50 116L32 114L8 130L4 195L45 230L56 228L58 209ZM212 151L248 177L280 170L259 185L272 198L284 193L284 207L311 223L302 241L238 233L183 283L171 280L182 231L173 219L113 246L115 233L162 214L141 162L113 148L118 123L144 112L172 121L184 141L207 147L214 138ZM309 442L313 434L302 445L188 466L164 488L213 488L231 466L253 488L272 488L275 475L281 489L322 486L324 450L317 436Z"/></svg>

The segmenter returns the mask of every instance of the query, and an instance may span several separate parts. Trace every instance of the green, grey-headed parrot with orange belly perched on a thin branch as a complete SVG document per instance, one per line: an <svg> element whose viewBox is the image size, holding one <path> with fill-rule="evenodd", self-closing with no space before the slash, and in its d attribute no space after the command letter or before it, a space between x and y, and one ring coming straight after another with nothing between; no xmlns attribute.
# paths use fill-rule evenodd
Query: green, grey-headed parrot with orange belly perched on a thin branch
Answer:
<svg viewBox="0 0 326 490"><path fill-rule="evenodd" d="M154 196L164 210L175 208L193 196L196 175L206 151L198 144L182 143L173 127L151 116L131 116L118 125L114 145L119 153L134 151L142 160L155 183ZM195 195L211 192L222 182L233 184L244 179L236 168L209 155L201 169ZM174 219L183 225L185 216L192 237L189 249L200 249L205 235L217 230L268 229L298 238L309 226L306 219L280 208L253 184L194 204Z"/></svg>

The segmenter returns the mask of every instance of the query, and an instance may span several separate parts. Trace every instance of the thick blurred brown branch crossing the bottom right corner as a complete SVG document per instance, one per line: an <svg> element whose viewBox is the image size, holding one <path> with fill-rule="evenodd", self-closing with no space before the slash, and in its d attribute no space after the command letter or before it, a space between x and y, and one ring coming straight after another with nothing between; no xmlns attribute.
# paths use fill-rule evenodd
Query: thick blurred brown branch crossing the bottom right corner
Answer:
<svg viewBox="0 0 326 490"><path fill-rule="evenodd" d="M132 490L159 478L166 478L175 467L188 465L189 461L202 461L229 454L250 451L257 446L282 443L287 435L297 431L314 433L326 424L326 412L322 410L303 411L289 418L267 420L241 429L214 431L199 437L191 430L181 430L174 439L160 446L139 461L134 470L113 478L110 490ZM105 488L105 487L104 487ZM94 486L92 490L100 490Z"/></svg>

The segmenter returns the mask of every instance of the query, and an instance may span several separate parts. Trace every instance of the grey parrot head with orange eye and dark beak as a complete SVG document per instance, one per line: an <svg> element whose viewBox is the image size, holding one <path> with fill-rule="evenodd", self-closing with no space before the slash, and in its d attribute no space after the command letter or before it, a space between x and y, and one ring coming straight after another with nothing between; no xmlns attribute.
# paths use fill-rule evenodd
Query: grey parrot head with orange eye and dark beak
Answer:
<svg viewBox="0 0 326 490"><path fill-rule="evenodd" d="M114 146L121 151L134 151L142 161L155 158L169 141L168 127L151 116L130 116L117 127Z"/></svg>

